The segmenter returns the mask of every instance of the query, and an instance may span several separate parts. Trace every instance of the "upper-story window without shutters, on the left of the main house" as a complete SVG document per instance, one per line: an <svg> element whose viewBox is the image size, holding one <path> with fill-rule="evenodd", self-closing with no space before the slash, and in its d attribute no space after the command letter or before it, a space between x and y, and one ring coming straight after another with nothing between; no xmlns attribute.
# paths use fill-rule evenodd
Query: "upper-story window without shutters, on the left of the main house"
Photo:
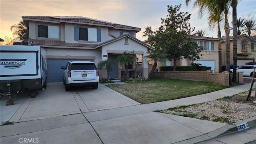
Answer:
<svg viewBox="0 0 256 144"><path fill-rule="evenodd" d="M38 25L38 38L59 38L59 26Z"/></svg>

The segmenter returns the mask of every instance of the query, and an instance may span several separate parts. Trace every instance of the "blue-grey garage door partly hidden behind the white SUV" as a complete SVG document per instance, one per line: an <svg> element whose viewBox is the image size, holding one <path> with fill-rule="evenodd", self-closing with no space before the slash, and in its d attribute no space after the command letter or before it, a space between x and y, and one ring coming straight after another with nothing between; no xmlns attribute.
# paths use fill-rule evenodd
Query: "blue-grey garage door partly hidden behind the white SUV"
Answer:
<svg viewBox="0 0 256 144"><path fill-rule="evenodd" d="M68 61L74 60L57 60L57 59L47 59L47 82L63 82L63 70L61 66L66 66ZM93 61L93 60L88 60Z"/></svg>

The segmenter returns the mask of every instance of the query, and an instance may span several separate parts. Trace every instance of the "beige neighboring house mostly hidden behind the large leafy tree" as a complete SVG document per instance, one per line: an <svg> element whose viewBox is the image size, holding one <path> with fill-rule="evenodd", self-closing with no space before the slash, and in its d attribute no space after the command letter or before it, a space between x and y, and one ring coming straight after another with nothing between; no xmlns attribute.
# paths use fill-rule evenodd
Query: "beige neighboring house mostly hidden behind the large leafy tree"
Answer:
<svg viewBox="0 0 256 144"><path fill-rule="evenodd" d="M218 38L210 38L204 36L194 36L193 41L195 41L198 46L204 47L202 59L195 61L194 63L200 63L202 66L212 67L213 72L218 72ZM148 44L148 40L144 40ZM149 62L153 64L154 62ZM191 66L192 61L190 59L183 58L182 60L177 60L176 66ZM157 68L159 71L159 66L173 66L174 61L158 62Z"/></svg>

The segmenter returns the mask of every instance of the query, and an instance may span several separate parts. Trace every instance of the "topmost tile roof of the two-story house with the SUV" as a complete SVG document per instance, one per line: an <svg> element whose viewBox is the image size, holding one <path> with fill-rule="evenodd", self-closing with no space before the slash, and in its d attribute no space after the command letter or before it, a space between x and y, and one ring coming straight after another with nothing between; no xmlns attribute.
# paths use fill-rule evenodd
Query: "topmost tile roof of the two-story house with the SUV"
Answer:
<svg viewBox="0 0 256 144"><path fill-rule="evenodd" d="M89 24L102 24L106 26L111 26L114 28L128 28L128 29L134 29L137 31L140 31L141 28L133 27L133 26L126 26L122 24L116 24L112 22L107 22L103 20L96 20L92 18L86 18L82 16L22 16L22 19L26 24L28 24L27 19L34 19L34 20L49 20L54 22L61 22L61 21L70 21L70 22L82 22L82 23L89 23Z"/></svg>

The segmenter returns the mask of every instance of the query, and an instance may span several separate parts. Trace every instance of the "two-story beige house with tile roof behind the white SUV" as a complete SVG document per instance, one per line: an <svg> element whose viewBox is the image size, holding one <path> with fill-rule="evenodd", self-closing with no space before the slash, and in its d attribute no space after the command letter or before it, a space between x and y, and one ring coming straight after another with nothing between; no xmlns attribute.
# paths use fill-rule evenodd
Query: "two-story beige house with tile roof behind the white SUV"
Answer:
<svg viewBox="0 0 256 144"><path fill-rule="evenodd" d="M152 47L136 38L141 28L78 16L22 16L30 41L47 50L48 82L62 82L62 69L69 60L115 61L124 51L142 58ZM134 66L131 67L134 68ZM113 64L110 77L121 78L122 66ZM142 60L142 76L148 63ZM106 78L106 69L100 78Z"/></svg>

